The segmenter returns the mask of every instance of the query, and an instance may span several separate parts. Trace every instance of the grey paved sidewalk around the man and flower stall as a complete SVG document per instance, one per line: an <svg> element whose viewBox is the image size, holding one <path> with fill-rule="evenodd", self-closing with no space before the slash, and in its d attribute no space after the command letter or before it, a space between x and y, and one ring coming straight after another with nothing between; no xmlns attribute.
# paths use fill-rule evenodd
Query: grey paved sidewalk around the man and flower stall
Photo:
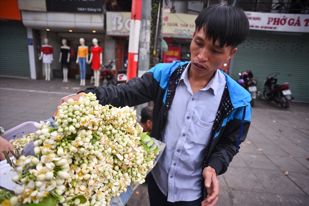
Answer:
<svg viewBox="0 0 309 206"><path fill-rule="evenodd" d="M70 81L0 78L0 126L8 130L49 119L59 99L91 86L89 80L85 87ZM246 141L227 172L218 176L217 205L309 205L308 118L308 103L291 102L283 110L273 102L256 101ZM139 205L150 205L146 183L127 204Z"/></svg>

